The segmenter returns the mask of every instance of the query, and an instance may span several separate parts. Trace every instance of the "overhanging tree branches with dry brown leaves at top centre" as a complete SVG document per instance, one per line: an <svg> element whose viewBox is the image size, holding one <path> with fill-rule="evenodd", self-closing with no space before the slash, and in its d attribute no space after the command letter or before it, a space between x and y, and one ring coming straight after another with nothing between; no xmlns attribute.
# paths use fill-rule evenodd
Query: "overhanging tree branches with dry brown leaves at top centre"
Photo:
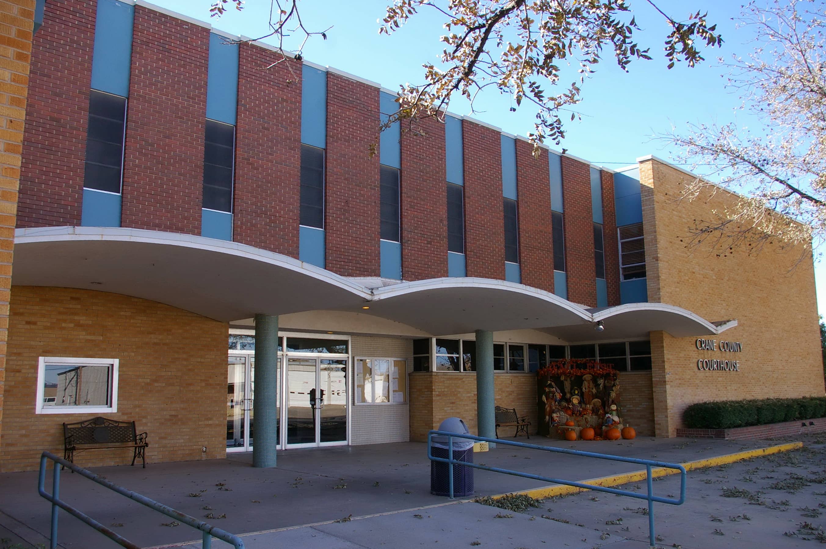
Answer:
<svg viewBox="0 0 826 549"><path fill-rule="evenodd" d="M308 39L324 39L330 31L308 30L299 0L271 2L268 32L255 40L274 38L286 49L289 36L300 56ZM679 62L693 67L703 60L701 47L723 42L705 13L691 12L681 20L653 0L635 3L667 21L663 55L669 69ZM230 7L242 9L243 2L216 0L212 15L221 17ZM537 112L529 138L538 154L539 143L558 144L565 136L563 117L577 117L582 88L605 50L624 70L633 60L652 58L650 45L634 41L639 29L631 0L393 0L378 31L392 35L422 10L437 12L443 21L442 51L424 64L420 84L400 86L399 110L386 126L401 120L412 128L422 117L443 118L457 94L472 106L479 93L495 88L513 98L511 110L530 104Z"/></svg>

